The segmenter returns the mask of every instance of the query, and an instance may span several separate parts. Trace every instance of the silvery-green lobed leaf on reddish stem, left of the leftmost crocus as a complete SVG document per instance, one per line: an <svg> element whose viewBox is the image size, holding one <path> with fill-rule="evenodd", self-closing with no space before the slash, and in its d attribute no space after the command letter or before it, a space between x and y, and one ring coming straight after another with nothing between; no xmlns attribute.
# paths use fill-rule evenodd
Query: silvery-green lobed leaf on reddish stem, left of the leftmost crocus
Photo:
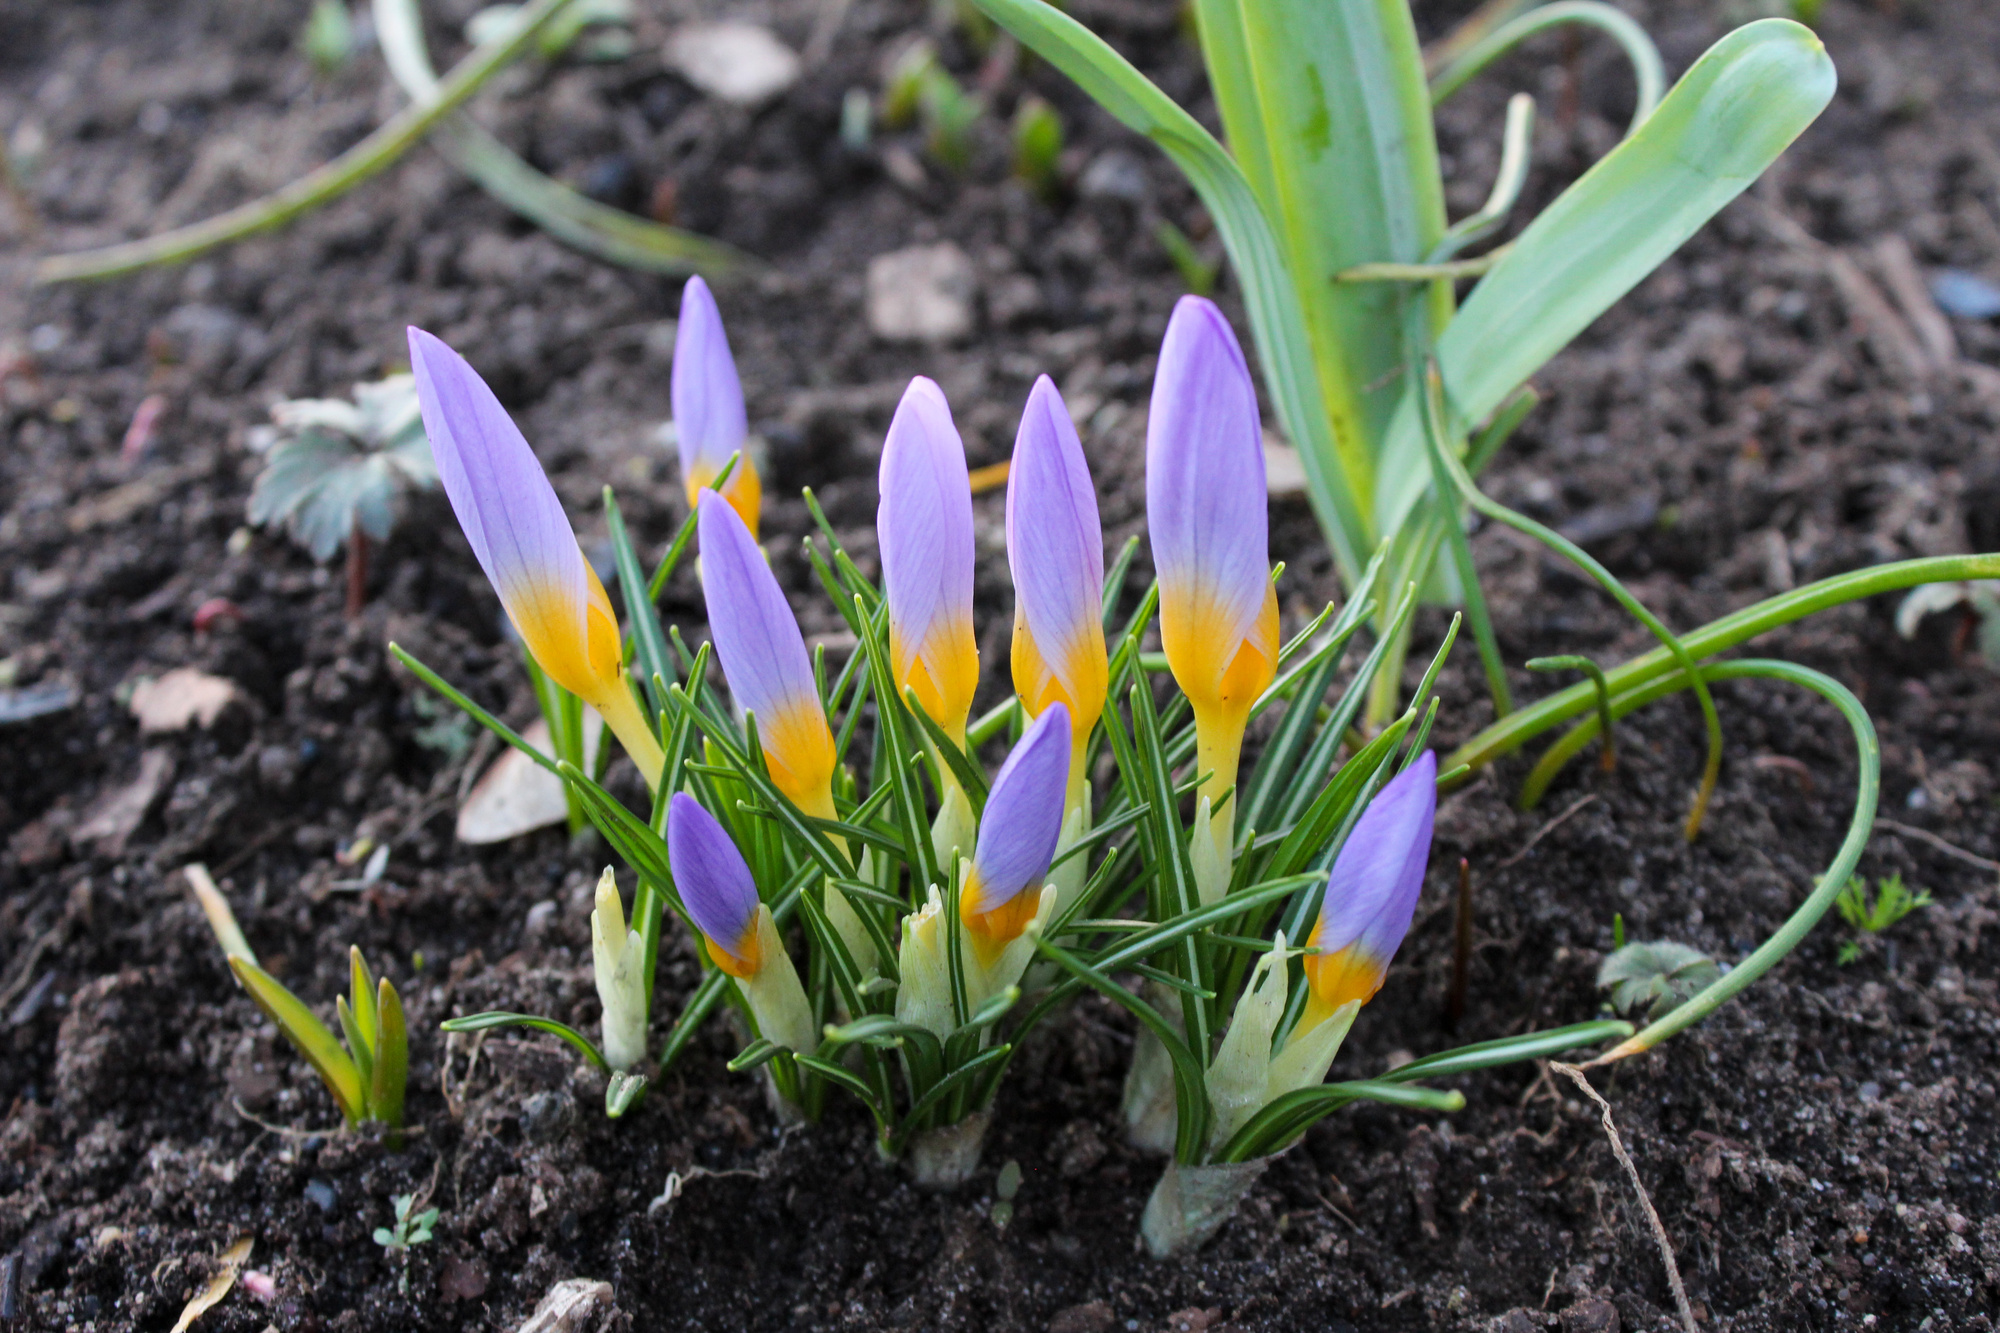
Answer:
<svg viewBox="0 0 2000 1333"><path fill-rule="evenodd" d="M250 490L250 522L284 524L314 560L348 550L348 618L368 596L368 542L388 540L412 490L438 484L424 438L416 380L392 374L354 386L354 402L292 398L250 434L264 470Z"/></svg>

